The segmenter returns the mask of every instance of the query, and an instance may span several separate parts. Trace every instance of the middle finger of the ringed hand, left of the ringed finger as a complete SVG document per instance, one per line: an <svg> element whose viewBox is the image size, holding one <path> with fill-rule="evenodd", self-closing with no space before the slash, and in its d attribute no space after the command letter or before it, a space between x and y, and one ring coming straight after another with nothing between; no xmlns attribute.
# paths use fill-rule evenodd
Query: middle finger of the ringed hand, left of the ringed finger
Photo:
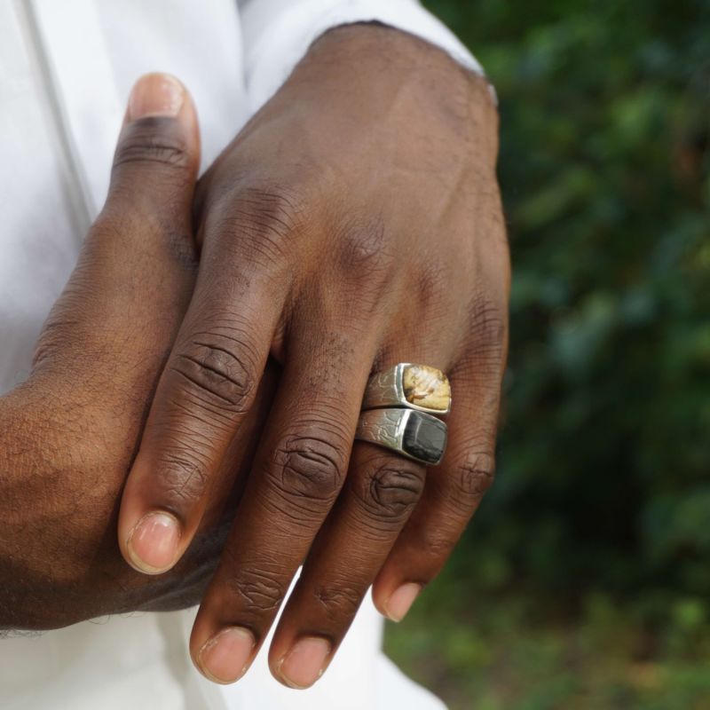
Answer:
<svg viewBox="0 0 710 710"><path fill-rule="evenodd" d="M364 322L350 320L339 333L317 308L304 310L255 474L193 627L194 662L220 682L236 680L253 659L335 502L375 355L377 334ZM327 654L323 639L306 642Z"/></svg>

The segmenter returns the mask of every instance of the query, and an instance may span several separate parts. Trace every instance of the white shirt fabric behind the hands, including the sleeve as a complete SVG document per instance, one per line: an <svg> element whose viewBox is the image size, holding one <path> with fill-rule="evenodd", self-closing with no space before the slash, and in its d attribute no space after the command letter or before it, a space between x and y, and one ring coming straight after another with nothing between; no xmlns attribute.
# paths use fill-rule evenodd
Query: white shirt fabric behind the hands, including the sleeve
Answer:
<svg viewBox="0 0 710 710"><path fill-rule="evenodd" d="M0 393L28 375L43 319L106 195L130 86L168 71L193 93L203 165L327 28L382 20L478 69L414 0L0 0ZM113 710L435 710L380 651L368 599L312 690L272 680L264 653L241 682L192 667L194 611L84 622L0 640L0 707Z"/></svg>

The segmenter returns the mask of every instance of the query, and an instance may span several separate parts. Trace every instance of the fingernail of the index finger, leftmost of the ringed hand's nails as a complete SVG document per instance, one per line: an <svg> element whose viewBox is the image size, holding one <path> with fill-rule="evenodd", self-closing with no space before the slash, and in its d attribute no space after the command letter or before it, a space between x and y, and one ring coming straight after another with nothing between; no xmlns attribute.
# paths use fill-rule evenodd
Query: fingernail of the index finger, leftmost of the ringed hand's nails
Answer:
<svg viewBox="0 0 710 710"><path fill-rule="evenodd" d="M170 513L148 513L130 532L126 547L138 572L160 574L170 569L180 544L180 525Z"/></svg>

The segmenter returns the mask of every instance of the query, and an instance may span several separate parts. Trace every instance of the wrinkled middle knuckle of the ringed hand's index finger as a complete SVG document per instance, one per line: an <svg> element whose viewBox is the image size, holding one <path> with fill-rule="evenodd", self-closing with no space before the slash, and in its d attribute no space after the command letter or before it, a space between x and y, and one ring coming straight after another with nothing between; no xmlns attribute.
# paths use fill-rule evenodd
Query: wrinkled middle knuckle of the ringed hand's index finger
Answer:
<svg viewBox="0 0 710 710"><path fill-rule="evenodd" d="M207 336L193 340L177 353L170 367L201 397L207 398L203 403L206 406L242 414L256 389L255 368L240 353L247 348L222 343L222 340Z"/></svg>

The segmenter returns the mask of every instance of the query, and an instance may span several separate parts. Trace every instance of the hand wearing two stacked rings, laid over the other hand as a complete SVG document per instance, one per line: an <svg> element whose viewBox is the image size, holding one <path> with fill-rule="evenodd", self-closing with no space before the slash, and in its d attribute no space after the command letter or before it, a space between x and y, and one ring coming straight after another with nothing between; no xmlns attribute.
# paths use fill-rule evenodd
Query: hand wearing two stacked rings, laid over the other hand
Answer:
<svg viewBox="0 0 710 710"><path fill-rule="evenodd" d="M270 651L314 682L367 588L401 619L493 476L509 255L485 81L397 31L339 28L201 180L195 291L123 493L119 541L164 572L193 540L270 354L283 363L253 472L191 640L239 678ZM371 372L447 372L449 451L426 472L352 446ZM155 525L156 520L161 525Z"/></svg>

